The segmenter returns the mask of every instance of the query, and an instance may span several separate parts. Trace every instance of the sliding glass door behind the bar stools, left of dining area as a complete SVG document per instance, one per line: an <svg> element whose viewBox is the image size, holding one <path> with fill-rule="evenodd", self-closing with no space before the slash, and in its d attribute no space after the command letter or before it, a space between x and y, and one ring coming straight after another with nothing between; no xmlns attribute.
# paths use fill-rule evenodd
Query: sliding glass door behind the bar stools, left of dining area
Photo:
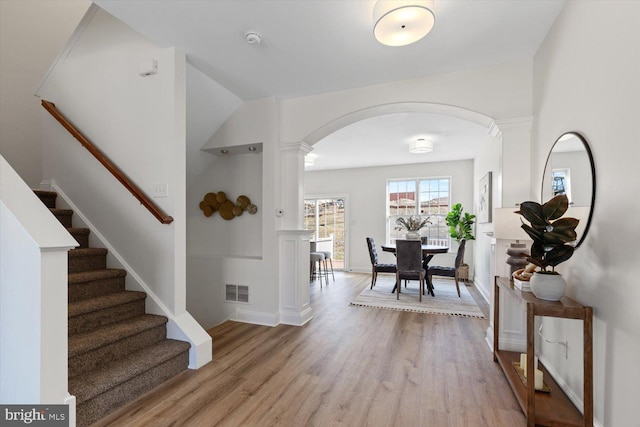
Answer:
<svg viewBox="0 0 640 427"><path fill-rule="evenodd" d="M346 260L346 198L309 197L304 200L304 227L311 240L333 240L333 268L344 270Z"/></svg>

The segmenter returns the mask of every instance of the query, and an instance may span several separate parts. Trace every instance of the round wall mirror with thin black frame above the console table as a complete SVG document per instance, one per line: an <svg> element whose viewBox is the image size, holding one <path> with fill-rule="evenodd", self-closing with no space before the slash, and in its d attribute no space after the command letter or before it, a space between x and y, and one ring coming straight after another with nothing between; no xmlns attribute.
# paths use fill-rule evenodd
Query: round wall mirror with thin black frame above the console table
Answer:
<svg viewBox="0 0 640 427"><path fill-rule="evenodd" d="M577 243L584 241L596 197L596 169L587 140L577 132L562 134L551 147L542 176L541 203L558 194L569 198L567 217L578 218Z"/></svg>

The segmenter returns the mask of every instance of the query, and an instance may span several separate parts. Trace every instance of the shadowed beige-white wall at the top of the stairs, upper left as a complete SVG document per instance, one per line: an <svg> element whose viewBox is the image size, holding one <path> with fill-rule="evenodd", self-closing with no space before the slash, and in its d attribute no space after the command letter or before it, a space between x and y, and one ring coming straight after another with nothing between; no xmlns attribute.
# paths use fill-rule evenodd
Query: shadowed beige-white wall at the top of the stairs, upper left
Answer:
<svg viewBox="0 0 640 427"><path fill-rule="evenodd" d="M0 1L0 153L31 188L42 179L38 84L91 2Z"/></svg>

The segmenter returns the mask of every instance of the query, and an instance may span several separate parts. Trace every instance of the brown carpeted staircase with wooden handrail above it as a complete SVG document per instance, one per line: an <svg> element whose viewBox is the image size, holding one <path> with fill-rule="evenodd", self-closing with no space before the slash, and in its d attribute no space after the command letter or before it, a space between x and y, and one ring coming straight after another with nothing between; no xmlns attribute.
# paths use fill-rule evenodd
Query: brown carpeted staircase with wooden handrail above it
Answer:
<svg viewBox="0 0 640 427"><path fill-rule="evenodd" d="M72 226L57 193L35 193L80 244L69 251L69 393L88 426L187 369L190 345L167 339L167 318L145 313L146 294L125 290L126 271L88 247L89 229Z"/></svg>

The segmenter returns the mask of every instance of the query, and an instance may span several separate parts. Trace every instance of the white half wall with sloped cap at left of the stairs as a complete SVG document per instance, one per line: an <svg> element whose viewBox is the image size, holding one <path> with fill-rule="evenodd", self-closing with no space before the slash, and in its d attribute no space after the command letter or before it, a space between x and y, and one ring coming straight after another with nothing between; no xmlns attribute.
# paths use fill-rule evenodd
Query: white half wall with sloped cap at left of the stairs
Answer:
<svg viewBox="0 0 640 427"><path fill-rule="evenodd" d="M2 156L0 236L0 402L65 403L67 251L77 242Z"/></svg>

